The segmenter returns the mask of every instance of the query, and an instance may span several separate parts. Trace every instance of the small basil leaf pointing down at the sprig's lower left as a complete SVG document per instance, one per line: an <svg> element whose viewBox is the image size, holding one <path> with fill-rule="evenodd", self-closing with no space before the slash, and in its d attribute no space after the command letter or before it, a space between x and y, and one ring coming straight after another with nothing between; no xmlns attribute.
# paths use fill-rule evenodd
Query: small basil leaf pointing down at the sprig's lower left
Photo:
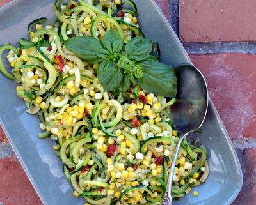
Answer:
<svg viewBox="0 0 256 205"><path fill-rule="evenodd" d="M104 92L118 89L122 82L123 75L122 71L115 66L104 68L99 79L100 84L104 87Z"/></svg>

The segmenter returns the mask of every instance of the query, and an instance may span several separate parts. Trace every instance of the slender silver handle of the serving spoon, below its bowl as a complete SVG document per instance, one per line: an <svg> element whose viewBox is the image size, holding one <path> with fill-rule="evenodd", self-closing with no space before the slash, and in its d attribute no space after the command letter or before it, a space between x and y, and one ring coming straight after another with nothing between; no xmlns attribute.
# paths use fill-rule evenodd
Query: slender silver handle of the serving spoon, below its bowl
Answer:
<svg viewBox="0 0 256 205"><path fill-rule="evenodd" d="M162 205L172 205L172 181L173 181L174 169L175 169L176 161L178 158L180 146L187 134L188 133L180 136L180 139L179 139L179 141L176 145L175 151L173 153L172 164L171 164L171 167L169 170L169 177L168 177L168 182L166 185L165 194L164 194L164 197L162 200Z"/></svg>

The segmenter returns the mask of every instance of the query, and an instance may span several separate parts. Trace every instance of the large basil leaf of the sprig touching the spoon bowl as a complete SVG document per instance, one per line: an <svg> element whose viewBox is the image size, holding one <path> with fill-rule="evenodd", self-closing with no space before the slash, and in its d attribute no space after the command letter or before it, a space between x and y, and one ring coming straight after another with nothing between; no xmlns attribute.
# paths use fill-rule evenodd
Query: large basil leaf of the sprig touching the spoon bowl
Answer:
<svg viewBox="0 0 256 205"><path fill-rule="evenodd" d="M177 79L174 70L163 63L159 63L155 57L149 57L145 61L136 64L143 69L143 78L134 79L142 89L159 96L174 98L177 93ZM133 82L133 80L132 80Z"/></svg>

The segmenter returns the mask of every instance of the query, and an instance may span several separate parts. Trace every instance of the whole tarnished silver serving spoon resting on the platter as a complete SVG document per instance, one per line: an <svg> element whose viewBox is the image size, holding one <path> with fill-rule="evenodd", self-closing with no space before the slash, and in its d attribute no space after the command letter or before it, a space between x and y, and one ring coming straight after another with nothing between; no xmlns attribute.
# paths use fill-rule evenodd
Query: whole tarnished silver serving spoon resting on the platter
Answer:
<svg viewBox="0 0 256 205"><path fill-rule="evenodd" d="M170 106L170 115L175 129L180 133L179 142L173 155L168 183L162 204L172 204L172 182L175 163L184 138L202 126L208 107L208 90L200 71L192 65L180 65L175 68L177 76L176 102Z"/></svg>

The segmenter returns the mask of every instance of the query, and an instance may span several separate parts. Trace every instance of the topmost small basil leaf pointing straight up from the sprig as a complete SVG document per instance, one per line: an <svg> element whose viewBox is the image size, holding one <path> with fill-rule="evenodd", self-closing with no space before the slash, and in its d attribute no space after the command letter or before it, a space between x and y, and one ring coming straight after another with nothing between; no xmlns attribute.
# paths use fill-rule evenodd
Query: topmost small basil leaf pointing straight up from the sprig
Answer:
<svg viewBox="0 0 256 205"><path fill-rule="evenodd" d="M119 53L123 47L122 38L120 34L114 29L110 29L104 35L102 43L105 49L107 49L112 54Z"/></svg>

